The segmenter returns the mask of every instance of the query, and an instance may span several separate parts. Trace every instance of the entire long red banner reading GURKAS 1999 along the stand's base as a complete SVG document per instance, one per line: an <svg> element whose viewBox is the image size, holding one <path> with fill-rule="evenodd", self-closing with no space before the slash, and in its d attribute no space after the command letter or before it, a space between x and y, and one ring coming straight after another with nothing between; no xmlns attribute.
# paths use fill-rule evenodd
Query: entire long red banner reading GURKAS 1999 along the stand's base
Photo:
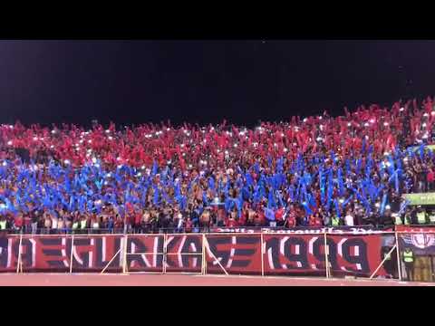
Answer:
<svg viewBox="0 0 435 326"><path fill-rule="evenodd" d="M370 275L382 261L382 236L327 235L333 273ZM24 272L325 274L324 235L24 235ZM203 242L203 240L206 240ZM0 237L0 272L16 270L20 236ZM73 244L73 251L72 251ZM116 256L115 256L116 254ZM114 258L113 258L114 257ZM113 259L112 259L113 258ZM377 273L385 274L383 268Z"/></svg>

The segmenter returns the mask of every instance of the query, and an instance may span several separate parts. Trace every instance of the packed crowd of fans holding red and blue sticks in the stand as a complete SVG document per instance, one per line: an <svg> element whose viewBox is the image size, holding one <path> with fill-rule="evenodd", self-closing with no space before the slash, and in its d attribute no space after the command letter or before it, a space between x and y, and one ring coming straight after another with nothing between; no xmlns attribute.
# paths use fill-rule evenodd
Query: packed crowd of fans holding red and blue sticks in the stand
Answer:
<svg viewBox="0 0 435 326"><path fill-rule="evenodd" d="M410 224L401 195L435 190L434 104L254 129L2 125L0 230Z"/></svg>

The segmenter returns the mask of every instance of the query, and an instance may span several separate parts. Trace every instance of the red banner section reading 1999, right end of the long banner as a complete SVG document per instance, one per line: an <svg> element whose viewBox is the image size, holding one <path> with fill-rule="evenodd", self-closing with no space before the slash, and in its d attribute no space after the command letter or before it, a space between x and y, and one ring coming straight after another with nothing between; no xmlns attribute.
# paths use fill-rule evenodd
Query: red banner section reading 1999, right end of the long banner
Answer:
<svg viewBox="0 0 435 326"><path fill-rule="evenodd" d="M328 235L331 272L370 275L382 262L381 236ZM324 235L264 235L264 240L265 273L325 273Z"/></svg>

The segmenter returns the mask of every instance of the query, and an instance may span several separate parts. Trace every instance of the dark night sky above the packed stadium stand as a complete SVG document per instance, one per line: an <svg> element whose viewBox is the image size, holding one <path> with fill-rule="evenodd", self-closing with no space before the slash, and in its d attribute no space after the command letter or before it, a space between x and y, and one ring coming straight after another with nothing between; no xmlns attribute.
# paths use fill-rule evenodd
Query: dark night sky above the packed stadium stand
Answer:
<svg viewBox="0 0 435 326"><path fill-rule="evenodd" d="M435 41L0 41L2 123L254 126L435 95Z"/></svg>

